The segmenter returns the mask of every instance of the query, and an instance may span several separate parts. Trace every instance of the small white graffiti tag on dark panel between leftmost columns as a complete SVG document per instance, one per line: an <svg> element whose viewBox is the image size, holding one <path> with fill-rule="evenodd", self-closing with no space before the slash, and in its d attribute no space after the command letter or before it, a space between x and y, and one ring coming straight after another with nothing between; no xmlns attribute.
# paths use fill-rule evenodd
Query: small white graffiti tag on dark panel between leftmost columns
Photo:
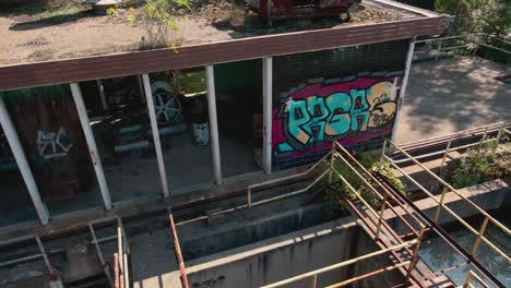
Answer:
<svg viewBox="0 0 511 288"><path fill-rule="evenodd" d="M39 156L45 159L66 156L73 146L63 128L58 132L37 131L36 142Z"/></svg>

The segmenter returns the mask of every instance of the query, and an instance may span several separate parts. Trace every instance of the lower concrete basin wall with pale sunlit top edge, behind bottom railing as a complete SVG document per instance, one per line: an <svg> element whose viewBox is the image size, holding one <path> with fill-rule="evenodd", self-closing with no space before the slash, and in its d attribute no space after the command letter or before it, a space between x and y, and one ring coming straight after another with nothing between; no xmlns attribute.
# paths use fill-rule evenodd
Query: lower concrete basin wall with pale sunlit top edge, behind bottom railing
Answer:
<svg viewBox="0 0 511 288"><path fill-rule="evenodd" d="M187 263L187 272L193 288L260 287L375 250L377 247L363 228L353 218L344 218L191 261ZM325 273L319 276L318 287L389 264L390 261L381 256ZM402 279L402 275L393 271L358 285L391 287ZM310 280L285 287L310 287Z"/></svg>

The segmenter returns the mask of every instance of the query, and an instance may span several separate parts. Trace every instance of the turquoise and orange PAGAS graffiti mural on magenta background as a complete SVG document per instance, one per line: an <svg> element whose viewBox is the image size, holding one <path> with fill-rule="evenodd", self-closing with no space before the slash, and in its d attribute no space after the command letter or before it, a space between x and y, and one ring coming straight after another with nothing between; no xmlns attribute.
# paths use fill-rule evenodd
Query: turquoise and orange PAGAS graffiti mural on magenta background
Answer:
<svg viewBox="0 0 511 288"><path fill-rule="evenodd" d="M273 109L273 152L300 156L389 134L397 108L401 77L355 77L304 85L281 97ZM389 129L390 128L390 129Z"/></svg>

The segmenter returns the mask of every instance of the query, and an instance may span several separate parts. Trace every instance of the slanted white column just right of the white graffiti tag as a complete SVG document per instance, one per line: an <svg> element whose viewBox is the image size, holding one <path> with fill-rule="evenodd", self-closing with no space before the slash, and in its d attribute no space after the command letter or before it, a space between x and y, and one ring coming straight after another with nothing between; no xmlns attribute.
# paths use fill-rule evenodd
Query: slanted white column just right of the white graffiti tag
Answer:
<svg viewBox="0 0 511 288"><path fill-rule="evenodd" d="M70 86L71 95L73 95L74 105L76 106L76 111L80 118L80 123L82 124L83 134L85 135L85 141L87 142L88 154L91 154L91 160L94 166L94 171L96 172L97 183L99 184L99 191L102 192L105 208L111 209L110 192L108 191L102 159L97 153L96 140L94 139L94 133L91 129L91 121L88 120L87 109L83 103L82 91L80 89L80 85L78 83L71 83ZM99 89L103 89L103 86Z"/></svg>

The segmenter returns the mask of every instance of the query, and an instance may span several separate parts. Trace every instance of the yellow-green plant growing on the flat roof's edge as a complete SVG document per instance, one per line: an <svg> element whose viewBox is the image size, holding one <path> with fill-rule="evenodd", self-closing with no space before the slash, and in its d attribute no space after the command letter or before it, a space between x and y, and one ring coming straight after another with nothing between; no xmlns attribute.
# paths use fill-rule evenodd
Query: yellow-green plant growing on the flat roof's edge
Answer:
<svg viewBox="0 0 511 288"><path fill-rule="evenodd" d="M146 0L138 12L130 9L130 22L140 21L147 38L143 38L141 48L171 47L180 45L180 39L170 34L178 31L178 16L191 10L188 0Z"/></svg>

